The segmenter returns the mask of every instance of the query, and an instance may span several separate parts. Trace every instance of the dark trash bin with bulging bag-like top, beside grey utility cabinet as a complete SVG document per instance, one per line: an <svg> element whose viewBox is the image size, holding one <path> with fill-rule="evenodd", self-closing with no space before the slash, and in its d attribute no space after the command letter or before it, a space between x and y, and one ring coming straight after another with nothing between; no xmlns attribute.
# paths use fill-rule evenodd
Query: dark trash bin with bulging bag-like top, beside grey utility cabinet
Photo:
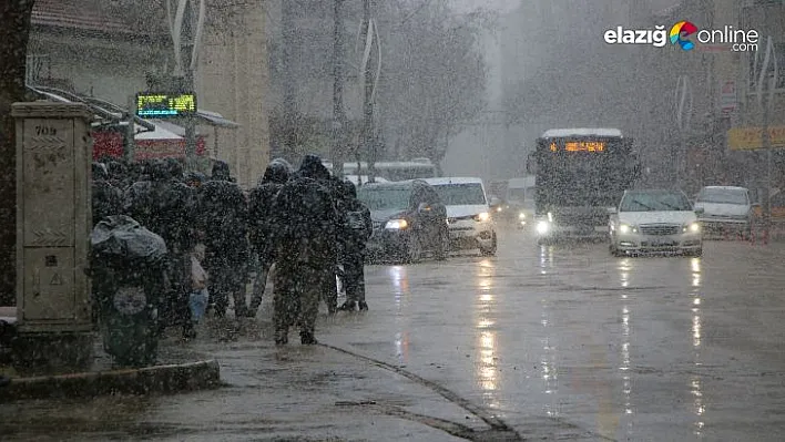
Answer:
<svg viewBox="0 0 785 442"><path fill-rule="evenodd" d="M166 244L124 215L101 220L90 235L93 300L106 353L126 367L155 362L157 306L165 291Z"/></svg>

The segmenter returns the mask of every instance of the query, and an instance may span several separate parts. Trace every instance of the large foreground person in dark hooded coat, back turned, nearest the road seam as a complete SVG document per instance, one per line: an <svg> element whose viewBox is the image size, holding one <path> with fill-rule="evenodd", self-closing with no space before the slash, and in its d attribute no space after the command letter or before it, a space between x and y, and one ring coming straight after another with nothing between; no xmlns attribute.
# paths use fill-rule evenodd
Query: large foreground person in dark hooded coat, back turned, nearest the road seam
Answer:
<svg viewBox="0 0 785 442"><path fill-rule="evenodd" d="M335 286L337 215L326 183L329 171L316 155L303 161L273 205L276 271L273 289L275 343L288 342L289 327L300 326L300 342L315 337L319 298Z"/></svg>

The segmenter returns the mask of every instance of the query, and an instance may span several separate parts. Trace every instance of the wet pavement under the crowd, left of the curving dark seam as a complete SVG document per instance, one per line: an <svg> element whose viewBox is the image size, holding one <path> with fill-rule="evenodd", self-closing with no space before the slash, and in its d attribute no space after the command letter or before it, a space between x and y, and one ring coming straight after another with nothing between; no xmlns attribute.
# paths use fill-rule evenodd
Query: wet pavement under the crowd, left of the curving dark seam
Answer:
<svg viewBox="0 0 785 442"><path fill-rule="evenodd" d="M155 440L164 441L182 440L183 434L188 441L520 440L506 429L495 429L492 420L489 424L485 421L488 417L472 412L471 407L467 410L460 400L329 348L327 333L318 337L318 346L300 346L294 332L293 343L275 347L272 322L267 315L262 316L243 320L239 332L231 320L211 320L200 327L195 341L182 343L171 338L162 342L162 356L169 359L201 353L220 361L222 388L162 395L154 401L147 395L114 401L93 398L65 407L0 401L0 415L10 418L0 421L0 434L11 441L44 440L48 435L85 441L103 440L106 431L133 436L145 428ZM333 319L319 316L323 330L329 321ZM13 412L9 413L10 408ZM144 413L125 412L134 408L144 409ZM100 423L104 421L101 415L111 415L111 422ZM68 436L58 432L58 422L69 423Z"/></svg>

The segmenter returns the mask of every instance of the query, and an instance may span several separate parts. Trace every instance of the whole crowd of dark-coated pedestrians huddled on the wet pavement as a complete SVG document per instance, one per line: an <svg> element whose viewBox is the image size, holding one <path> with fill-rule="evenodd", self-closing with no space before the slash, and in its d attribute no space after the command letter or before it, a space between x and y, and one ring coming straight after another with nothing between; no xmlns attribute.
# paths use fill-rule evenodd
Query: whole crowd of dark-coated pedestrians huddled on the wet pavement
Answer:
<svg viewBox="0 0 785 442"><path fill-rule="evenodd" d="M368 309L363 268L370 212L355 185L330 175L316 155L306 155L297 171L272 161L247 196L224 162L214 164L210 178L184 173L175 160L95 163L93 224L119 214L166 243L169 284L160 317L164 326L182 325L186 338L198 319L188 308L194 294L206 288L216 317L226 315L230 300L235 318L255 317L271 274L277 345L287 343L294 326L302 343L316 343L320 300L330 313ZM197 244L203 255L194 251ZM203 274L194 270L202 266ZM246 304L251 273L256 279ZM340 307L336 277L346 288Z"/></svg>

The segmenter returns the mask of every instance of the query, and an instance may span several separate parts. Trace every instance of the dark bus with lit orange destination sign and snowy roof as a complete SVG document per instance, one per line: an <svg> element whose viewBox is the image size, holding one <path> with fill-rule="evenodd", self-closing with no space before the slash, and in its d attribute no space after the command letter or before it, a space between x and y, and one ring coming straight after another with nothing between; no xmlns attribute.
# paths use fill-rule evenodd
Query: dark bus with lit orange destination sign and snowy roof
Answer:
<svg viewBox="0 0 785 442"><path fill-rule="evenodd" d="M555 129L537 140L527 168L536 181L540 243L608 236L609 208L640 176L632 138L618 129Z"/></svg>

